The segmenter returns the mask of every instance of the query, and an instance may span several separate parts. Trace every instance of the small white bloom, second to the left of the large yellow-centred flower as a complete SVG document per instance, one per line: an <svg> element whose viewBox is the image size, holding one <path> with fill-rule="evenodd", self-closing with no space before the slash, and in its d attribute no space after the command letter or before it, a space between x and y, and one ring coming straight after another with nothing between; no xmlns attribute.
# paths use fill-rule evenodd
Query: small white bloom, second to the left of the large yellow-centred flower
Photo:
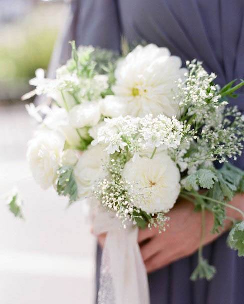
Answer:
<svg viewBox="0 0 244 304"><path fill-rule="evenodd" d="M96 101L87 101L74 106L69 112L69 122L74 128L93 127L100 120L100 106Z"/></svg>

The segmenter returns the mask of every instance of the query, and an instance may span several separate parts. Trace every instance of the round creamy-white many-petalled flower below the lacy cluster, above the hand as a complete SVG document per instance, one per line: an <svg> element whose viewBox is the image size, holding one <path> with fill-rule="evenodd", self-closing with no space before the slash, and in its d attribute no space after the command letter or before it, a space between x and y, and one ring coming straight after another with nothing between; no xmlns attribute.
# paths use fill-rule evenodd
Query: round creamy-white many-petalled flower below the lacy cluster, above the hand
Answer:
<svg viewBox="0 0 244 304"><path fill-rule="evenodd" d="M134 201L134 205L145 212L167 212L179 195L180 173L166 153L152 159L131 159L126 163L122 176L133 184L133 194L140 198Z"/></svg>

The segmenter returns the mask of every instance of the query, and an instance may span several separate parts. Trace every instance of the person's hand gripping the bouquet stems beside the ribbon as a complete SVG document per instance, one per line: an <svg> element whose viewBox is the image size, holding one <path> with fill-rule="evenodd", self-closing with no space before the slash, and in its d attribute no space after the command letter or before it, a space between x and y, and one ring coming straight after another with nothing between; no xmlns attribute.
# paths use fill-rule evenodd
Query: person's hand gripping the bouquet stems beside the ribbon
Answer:
<svg viewBox="0 0 244 304"><path fill-rule="evenodd" d="M159 234L157 228L139 230L138 242L147 272L155 271L180 258L193 254L200 245L201 213L194 205L181 201L167 214L169 227ZM218 237L211 233L213 215L206 211L206 233L204 244Z"/></svg>

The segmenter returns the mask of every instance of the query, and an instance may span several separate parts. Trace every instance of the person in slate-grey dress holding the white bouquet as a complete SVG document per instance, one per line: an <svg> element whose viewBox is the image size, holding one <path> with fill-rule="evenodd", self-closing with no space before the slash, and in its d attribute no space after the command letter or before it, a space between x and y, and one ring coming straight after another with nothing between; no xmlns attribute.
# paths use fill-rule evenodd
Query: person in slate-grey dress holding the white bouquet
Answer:
<svg viewBox="0 0 244 304"><path fill-rule="evenodd" d="M133 43L154 43L167 47L182 62L194 58L218 75L223 86L244 75L244 2L241 0L72 0L67 24L53 54L49 75L70 57L68 41L120 52L121 36ZM244 111L244 95L230 100ZM244 156L234 162L244 169ZM231 205L244 210L244 195ZM241 220L227 209L221 235L212 234L213 216L206 212L204 256L217 266L211 281L191 281L201 238L201 214L187 199L169 211L170 226L140 230L138 242L148 272L151 304L242 304L244 303L244 260L226 243L229 219ZM98 237L97 278L106 235ZM97 284L99 284L97 280Z"/></svg>

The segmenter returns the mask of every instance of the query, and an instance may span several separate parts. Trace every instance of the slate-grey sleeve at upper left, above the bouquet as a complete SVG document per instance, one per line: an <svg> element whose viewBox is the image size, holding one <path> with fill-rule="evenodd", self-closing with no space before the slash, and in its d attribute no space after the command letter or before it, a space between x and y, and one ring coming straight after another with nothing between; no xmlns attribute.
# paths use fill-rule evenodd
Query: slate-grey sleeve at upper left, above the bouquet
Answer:
<svg viewBox="0 0 244 304"><path fill-rule="evenodd" d="M48 77L71 56L68 43L120 50L120 24L116 0L72 0L49 64Z"/></svg>

